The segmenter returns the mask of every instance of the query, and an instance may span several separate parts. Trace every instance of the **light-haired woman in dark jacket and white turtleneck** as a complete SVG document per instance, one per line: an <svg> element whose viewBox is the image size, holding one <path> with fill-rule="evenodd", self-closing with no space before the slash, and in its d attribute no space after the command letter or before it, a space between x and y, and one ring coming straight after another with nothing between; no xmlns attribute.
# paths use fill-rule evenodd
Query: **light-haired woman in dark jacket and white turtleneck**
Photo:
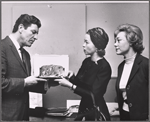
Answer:
<svg viewBox="0 0 150 122"><path fill-rule="evenodd" d="M114 38L117 55L124 56L116 81L120 120L147 120L149 60L141 55L142 31L135 25L123 24L115 31Z"/></svg>

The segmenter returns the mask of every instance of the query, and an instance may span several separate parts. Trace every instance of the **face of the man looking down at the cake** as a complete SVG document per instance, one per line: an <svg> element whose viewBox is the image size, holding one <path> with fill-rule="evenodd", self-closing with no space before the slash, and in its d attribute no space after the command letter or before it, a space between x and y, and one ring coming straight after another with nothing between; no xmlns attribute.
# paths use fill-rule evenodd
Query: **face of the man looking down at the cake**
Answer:
<svg viewBox="0 0 150 122"><path fill-rule="evenodd" d="M21 46L30 47L35 40L38 39L39 28L36 24L31 24L31 26L24 28L23 25L20 25L20 39Z"/></svg>

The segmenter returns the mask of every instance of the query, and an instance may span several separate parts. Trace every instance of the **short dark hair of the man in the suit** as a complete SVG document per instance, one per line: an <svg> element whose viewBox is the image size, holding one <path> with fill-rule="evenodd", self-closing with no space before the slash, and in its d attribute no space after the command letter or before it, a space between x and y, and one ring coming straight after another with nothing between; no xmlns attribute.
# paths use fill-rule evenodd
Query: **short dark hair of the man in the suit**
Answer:
<svg viewBox="0 0 150 122"><path fill-rule="evenodd" d="M28 14L22 14L15 22L14 28L13 28L13 33L17 32L18 26L20 24L23 24L25 29L31 26L31 24L36 24L38 28L41 27L41 22L38 18L36 18L33 15L28 15Z"/></svg>

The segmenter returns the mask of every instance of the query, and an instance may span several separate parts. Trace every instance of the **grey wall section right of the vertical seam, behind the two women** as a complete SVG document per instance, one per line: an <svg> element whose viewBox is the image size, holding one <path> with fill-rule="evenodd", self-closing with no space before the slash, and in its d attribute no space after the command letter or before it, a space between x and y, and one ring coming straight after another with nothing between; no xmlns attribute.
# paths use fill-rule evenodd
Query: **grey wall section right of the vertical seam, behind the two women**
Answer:
<svg viewBox="0 0 150 122"><path fill-rule="evenodd" d="M114 31L120 24L130 23L143 32L143 55L149 57L149 4L146 3L99 3L87 5L87 29L102 27L109 35L106 59L112 67L112 76L117 76L117 66L123 60L115 53Z"/></svg>

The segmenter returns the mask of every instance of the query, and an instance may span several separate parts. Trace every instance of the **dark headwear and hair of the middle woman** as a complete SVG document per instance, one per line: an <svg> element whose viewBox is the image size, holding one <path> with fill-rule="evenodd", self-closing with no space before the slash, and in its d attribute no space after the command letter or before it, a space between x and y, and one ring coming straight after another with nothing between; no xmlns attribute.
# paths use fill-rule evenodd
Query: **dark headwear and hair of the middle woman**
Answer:
<svg viewBox="0 0 150 122"><path fill-rule="evenodd" d="M98 55L103 57L106 53L105 48L109 41L107 33L100 27L89 29L86 33L90 35L91 41L98 49Z"/></svg>

